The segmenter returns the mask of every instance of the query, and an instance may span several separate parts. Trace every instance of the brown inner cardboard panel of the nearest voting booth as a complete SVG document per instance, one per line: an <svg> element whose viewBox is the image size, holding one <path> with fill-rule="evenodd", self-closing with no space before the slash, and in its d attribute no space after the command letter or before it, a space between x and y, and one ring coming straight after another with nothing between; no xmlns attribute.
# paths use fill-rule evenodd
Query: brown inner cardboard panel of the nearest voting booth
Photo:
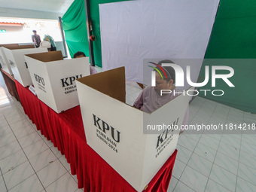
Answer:
<svg viewBox="0 0 256 192"><path fill-rule="evenodd" d="M124 67L79 78L78 81L125 103Z"/></svg>

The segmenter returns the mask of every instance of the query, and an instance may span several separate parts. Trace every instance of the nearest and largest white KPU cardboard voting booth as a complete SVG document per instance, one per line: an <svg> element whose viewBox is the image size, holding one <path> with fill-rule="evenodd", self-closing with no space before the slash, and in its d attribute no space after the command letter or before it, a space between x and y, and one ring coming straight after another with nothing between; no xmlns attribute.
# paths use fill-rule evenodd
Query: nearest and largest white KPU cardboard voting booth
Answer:
<svg viewBox="0 0 256 192"><path fill-rule="evenodd" d="M190 96L177 96L151 114L125 103L124 68L77 80L87 144L142 191L175 151L179 130L145 134L148 125L181 126Z"/></svg>

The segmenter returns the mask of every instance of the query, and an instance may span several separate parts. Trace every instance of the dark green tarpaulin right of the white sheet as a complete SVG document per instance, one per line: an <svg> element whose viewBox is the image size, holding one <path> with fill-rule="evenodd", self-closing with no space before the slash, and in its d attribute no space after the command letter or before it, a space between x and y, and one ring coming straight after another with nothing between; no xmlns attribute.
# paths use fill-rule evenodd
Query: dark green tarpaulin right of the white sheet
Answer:
<svg viewBox="0 0 256 192"><path fill-rule="evenodd" d="M256 113L255 10L256 1L221 0L199 78L204 79L205 66L232 67L234 75L229 79L235 87L228 87L222 80L216 81L216 87L212 87L209 81L201 90L224 90L224 95L203 96L201 93L200 96L252 113ZM215 61L209 60L212 58Z"/></svg>

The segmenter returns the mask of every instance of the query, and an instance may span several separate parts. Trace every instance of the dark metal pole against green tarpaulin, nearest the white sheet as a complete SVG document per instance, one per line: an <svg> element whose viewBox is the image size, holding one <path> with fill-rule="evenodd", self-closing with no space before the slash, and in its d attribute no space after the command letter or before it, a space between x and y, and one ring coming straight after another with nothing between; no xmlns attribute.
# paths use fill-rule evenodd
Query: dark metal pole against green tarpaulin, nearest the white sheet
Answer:
<svg viewBox="0 0 256 192"><path fill-rule="evenodd" d="M90 41L90 35L92 35L92 31L90 30L90 0L84 0L84 8L85 8L85 17L87 20L87 37L88 37L89 52L90 52L90 65L95 66L94 54L93 54L93 41Z"/></svg>

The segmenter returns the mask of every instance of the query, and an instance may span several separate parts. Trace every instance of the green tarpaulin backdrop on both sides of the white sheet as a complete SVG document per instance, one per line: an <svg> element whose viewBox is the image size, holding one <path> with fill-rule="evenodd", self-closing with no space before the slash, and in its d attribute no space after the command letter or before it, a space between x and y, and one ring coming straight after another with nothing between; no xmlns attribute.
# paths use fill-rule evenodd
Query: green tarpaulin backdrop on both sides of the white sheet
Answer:
<svg viewBox="0 0 256 192"><path fill-rule="evenodd" d="M96 66L102 66L102 53L99 26L99 3L122 2L122 0L90 1L90 13L93 21L93 51ZM256 113L256 1L221 0L209 47L206 50L206 61L203 62L199 81L204 79L205 66L230 66L235 74L230 81L235 87L228 87L222 80L211 81L201 90L224 90L223 96L212 96L200 92L200 96ZM78 50L89 56L87 26L84 11L84 0L75 0L62 17L62 25L71 56ZM209 59L217 59L215 62ZM220 60L221 59L221 60ZM210 70L211 73L211 70ZM218 72L218 74L225 72ZM226 71L227 73L227 71ZM211 75L210 75L211 77Z"/></svg>

